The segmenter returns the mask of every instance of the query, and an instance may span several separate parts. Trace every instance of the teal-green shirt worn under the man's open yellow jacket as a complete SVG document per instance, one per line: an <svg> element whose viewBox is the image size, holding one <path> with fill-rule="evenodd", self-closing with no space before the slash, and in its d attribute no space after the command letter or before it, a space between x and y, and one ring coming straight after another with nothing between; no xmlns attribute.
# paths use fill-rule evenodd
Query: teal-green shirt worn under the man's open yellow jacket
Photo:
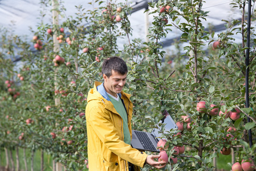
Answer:
<svg viewBox="0 0 256 171"><path fill-rule="evenodd" d="M112 96L108 95L109 99L111 100L112 104L114 105L117 113L122 117L123 119L123 129L124 129L124 143L131 145L131 135L128 128L128 120L127 120L127 113L125 111L124 105L119 97L119 100L117 101Z"/></svg>

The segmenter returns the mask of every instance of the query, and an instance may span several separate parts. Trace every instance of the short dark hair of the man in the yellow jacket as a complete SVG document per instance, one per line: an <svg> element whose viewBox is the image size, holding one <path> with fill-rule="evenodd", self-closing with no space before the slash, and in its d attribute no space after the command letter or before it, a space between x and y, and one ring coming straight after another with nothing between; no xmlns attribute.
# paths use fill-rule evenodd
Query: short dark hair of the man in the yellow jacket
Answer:
<svg viewBox="0 0 256 171"><path fill-rule="evenodd" d="M117 56L105 59L102 64L102 73L108 78L112 75L112 70L121 75L127 74L128 72L127 65L124 60Z"/></svg>

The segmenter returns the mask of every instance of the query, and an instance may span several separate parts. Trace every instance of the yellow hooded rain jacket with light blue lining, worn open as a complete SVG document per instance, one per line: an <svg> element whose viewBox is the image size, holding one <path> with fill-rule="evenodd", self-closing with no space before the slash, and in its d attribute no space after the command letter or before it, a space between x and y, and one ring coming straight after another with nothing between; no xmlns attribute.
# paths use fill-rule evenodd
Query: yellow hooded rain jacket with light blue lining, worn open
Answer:
<svg viewBox="0 0 256 171"><path fill-rule="evenodd" d="M118 95L124 101L132 137L132 102L129 100L131 95L123 91ZM89 170L128 171L128 162L136 165L135 170L143 168L148 155L124 143L123 119L109 100L103 83L94 83L94 88L88 92L87 101L85 116Z"/></svg>

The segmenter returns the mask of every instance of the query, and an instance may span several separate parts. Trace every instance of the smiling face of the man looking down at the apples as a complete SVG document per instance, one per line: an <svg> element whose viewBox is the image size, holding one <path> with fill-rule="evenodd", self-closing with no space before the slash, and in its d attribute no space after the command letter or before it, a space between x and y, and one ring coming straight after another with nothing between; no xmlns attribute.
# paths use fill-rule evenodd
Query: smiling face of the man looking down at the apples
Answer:
<svg viewBox="0 0 256 171"><path fill-rule="evenodd" d="M112 96L117 97L117 93L120 93L124 88L126 82L127 74L121 75L112 70L112 75L109 78L103 74L104 78L104 88Z"/></svg>

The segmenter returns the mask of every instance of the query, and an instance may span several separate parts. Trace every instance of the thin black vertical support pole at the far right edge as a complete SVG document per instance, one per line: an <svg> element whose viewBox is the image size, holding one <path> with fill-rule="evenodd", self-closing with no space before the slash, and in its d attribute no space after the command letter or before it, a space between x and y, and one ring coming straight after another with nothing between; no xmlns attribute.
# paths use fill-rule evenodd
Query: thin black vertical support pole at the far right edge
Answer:
<svg viewBox="0 0 256 171"><path fill-rule="evenodd" d="M249 56L250 56L250 33L251 33L251 0L248 1L248 18L247 18L247 41L246 46L246 59L245 59L245 100L246 100L246 108L249 108ZM250 123L250 118L247 117L247 122ZM248 130L249 135L249 144L250 147L253 145L253 139L251 137L251 129Z"/></svg>

